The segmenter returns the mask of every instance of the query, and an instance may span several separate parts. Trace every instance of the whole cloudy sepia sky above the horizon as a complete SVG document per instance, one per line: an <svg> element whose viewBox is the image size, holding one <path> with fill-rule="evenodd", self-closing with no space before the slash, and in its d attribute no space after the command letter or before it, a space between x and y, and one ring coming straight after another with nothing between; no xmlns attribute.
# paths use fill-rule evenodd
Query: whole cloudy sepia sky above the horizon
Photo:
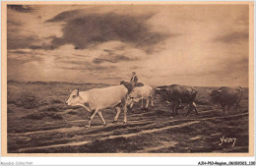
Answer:
<svg viewBox="0 0 256 166"><path fill-rule="evenodd" d="M8 80L248 86L248 10L8 6Z"/></svg>

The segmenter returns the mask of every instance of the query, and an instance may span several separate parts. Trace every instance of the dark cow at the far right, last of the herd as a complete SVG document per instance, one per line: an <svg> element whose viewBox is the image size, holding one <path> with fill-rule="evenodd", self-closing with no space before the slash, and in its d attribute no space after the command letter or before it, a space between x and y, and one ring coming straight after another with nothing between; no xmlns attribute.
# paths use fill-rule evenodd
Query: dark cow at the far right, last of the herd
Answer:
<svg viewBox="0 0 256 166"><path fill-rule="evenodd" d="M218 90L213 90L210 96L214 103L220 103L223 107L225 113L225 107L227 107L227 114L229 112L230 106L235 106L235 111L237 108L240 110L240 102L242 99L242 87L226 87L223 86Z"/></svg>

